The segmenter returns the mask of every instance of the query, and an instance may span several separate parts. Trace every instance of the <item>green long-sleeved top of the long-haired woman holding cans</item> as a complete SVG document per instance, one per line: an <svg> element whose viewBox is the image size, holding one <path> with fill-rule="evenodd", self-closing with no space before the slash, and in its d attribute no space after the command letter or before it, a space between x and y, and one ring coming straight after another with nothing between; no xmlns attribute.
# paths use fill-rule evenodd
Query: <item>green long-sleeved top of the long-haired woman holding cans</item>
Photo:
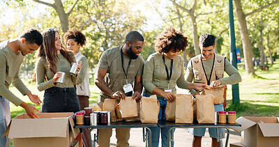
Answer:
<svg viewBox="0 0 279 147"><path fill-rule="evenodd" d="M75 55L70 52L70 56L73 58L73 61L76 62ZM40 56L36 62L36 83L39 91L44 91L47 88L51 88L53 86L60 88L70 88L73 87L77 80L79 79L79 74L77 77L75 75L70 75L70 67L71 64L67 61L66 58L62 54L58 54L58 62L56 63L56 72L65 72L65 79L63 84L54 84L52 78L54 73L50 70L49 65L47 64L47 60L45 56ZM45 81L45 77L47 81Z"/></svg>

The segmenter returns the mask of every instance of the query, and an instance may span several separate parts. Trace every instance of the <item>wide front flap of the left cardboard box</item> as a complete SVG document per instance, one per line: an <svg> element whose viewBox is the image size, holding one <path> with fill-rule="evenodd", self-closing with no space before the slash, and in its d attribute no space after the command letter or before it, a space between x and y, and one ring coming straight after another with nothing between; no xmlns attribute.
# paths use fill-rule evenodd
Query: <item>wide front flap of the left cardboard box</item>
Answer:
<svg viewBox="0 0 279 147"><path fill-rule="evenodd" d="M66 137L68 118L13 119L9 138Z"/></svg>

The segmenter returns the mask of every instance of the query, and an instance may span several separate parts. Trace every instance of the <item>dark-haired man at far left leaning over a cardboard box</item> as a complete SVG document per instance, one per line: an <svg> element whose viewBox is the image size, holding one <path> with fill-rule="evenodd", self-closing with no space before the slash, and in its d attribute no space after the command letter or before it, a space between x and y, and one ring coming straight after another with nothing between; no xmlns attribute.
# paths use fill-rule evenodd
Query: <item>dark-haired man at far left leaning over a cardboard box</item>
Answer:
<svg viewBox="0 0 279 147"><path fill-rule="evenodd" d="M38 109L17 98L8 88L10 84L13 84L22 95L28 95L33 103L40 105L41 101L38 95L29 91L18 74L24 56L33 54L42 43L43 37L36 29L25 31L20 38L0 43L0 146L10 146L7 136L1 138L10 122L10 102L24 108L31 118L38 118L34 111L38 111Z"/></svg>

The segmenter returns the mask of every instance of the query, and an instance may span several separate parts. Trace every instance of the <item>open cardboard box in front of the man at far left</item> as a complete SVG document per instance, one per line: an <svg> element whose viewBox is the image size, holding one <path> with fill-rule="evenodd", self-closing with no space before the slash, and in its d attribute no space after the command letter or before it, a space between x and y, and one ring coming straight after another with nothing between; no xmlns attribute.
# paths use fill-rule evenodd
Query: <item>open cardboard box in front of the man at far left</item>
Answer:
<svg viewBox="0 0 279 147"><path fill-rule="evenodd" d="M10 121L3 136L13 138L13 147L72 146L80 130L73 128L73 113L41 113L40 118L20 114Z"/></svg>

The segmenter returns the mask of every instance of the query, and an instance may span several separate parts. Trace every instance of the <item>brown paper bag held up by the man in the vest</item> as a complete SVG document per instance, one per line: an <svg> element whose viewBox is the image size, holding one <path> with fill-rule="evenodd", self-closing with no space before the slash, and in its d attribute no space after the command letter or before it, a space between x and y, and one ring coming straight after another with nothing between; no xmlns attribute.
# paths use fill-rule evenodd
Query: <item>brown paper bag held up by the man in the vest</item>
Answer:
<svg viewBox="0 0 279 147"><path fill-rule="evenodd" d="M218 88L215 89L211 89L210 86L204 87L204 95L212 94L214 97L213 102L215 105L224 102L224 91L225 91L225 85L220 85L218 86Z"/></svg>

